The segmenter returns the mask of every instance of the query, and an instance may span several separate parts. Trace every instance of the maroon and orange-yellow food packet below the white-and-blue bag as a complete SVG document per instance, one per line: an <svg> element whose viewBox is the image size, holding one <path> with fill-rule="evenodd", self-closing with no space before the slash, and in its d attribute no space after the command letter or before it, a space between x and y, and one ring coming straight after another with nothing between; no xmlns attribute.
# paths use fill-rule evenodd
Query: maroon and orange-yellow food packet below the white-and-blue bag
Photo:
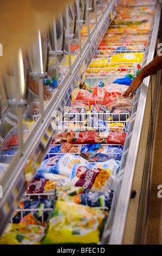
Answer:
<svg viewBox="0 0 162 256"><path fill-rule="evenodd" d="M55 193L56 181L34 178L27 187L27 194Z"/></svg>

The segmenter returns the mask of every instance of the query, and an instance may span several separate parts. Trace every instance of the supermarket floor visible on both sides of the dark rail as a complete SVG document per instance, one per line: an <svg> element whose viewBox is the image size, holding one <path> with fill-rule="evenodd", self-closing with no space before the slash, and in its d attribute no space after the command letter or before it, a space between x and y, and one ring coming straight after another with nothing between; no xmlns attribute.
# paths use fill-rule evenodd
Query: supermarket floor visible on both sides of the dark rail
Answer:
<svg viewBox="0 0 162 256"><path fill-rule="evenodd" d="M155 76L153 77L154 83L152 87L152 93L154 92ZM162 86L162 83L161 83ZM145 243L147 245L162 245L162 198L158 198L158 185L162 184L162 90L160 90L160 100L157 113L157 124L155 129L154 139L154 157L152 164L152 186L151 186L151 198L150 208L148 214L147 223L147 237L145 237ZM145 157L147 135L148 135L148 124L151 110L151 92L148 90L148 97L146 102L146 111L144 115L144 124L141 133L140 145L138 150L138 161L135 168L134 180L132 189L137 191L137 195L130 200L128 208L128 216L126 221L125 235L123 244L133 245L135 224L137 221L138 204L141 190L141 180L144 164L142 164L143 158Z"/></svg>

